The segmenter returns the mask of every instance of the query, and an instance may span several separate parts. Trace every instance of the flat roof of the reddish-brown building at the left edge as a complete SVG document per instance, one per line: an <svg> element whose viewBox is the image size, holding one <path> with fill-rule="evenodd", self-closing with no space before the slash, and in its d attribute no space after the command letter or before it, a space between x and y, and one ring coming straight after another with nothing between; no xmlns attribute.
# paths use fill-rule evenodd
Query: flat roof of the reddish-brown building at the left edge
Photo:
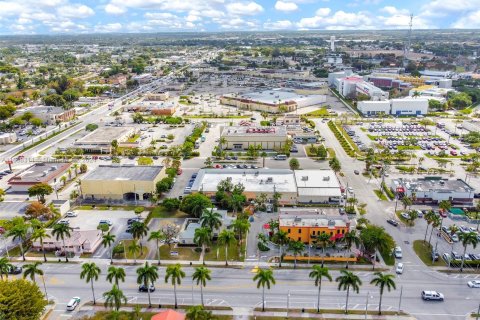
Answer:
<svg viewBox="0 0 480 320"><path fill-rule="evenodd" d="M47 182L70 167L69 162L35 163L8 180L9 184L37 184Z"/></svg>

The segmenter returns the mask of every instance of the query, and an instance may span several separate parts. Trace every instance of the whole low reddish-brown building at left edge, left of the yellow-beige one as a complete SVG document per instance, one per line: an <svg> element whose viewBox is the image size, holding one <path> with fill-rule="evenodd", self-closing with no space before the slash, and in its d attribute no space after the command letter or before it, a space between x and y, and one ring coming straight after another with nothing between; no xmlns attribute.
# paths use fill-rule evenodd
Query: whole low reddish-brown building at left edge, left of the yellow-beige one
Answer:
<svg viewBox="0 0 480 320"><path fill-rule="evenodd" d="M35 163L8 180L10 191L27 192L30 187L39 183L54 186L70 165L69 162Z"/></svg>

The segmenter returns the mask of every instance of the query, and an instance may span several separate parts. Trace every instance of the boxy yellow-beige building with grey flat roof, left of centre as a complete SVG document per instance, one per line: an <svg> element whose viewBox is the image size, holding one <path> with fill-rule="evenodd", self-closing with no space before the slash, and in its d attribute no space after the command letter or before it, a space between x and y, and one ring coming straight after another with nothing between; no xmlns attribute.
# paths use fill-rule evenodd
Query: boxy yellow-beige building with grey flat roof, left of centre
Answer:
<svg viewBox="0 0 480 320"><path fill-rule="evenodd" d="M165 176L162 166L100 165L82 180L82 196L91 200L147 200Z"/></svg>

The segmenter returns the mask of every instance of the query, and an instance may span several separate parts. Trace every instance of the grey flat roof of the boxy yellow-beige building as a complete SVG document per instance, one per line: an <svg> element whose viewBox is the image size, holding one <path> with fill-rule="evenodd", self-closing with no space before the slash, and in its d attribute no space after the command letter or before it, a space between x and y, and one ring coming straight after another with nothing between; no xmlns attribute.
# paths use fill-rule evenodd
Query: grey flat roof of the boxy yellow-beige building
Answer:
<svg viewBox="0 0 480 320"><path fill-rule="evenodd" d="M83 180L153 181L162 168L162 166L100 165Z"/></svg>

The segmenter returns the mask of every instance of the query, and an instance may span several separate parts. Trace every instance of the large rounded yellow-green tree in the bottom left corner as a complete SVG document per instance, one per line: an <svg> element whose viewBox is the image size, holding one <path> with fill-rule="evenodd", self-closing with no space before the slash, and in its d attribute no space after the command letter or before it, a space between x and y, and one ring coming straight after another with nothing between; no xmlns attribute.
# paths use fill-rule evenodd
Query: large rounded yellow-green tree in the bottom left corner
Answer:
<svg viewBox="0 0 480 320"><path fill-rule="evenodd" d="M38 286L25 279L0 281L0 317L40 320L47 305Z"/></svg>

